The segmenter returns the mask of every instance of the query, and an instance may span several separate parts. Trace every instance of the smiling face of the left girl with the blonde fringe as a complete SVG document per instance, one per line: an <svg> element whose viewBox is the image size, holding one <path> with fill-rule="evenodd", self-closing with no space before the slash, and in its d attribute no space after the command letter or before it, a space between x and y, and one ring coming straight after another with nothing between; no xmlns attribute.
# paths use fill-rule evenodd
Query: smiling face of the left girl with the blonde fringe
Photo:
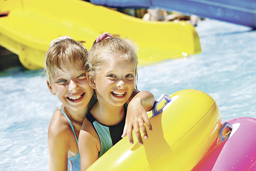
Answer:
<svg viewBox="0 0 256 171"><path fill-rule="evenodd" d="M47 82L48 88L67 109L85 110L92 98L93 89L87 81L84 66L77 63L75 69L71 68L70 71L57 69L51 85Z"/></svg>

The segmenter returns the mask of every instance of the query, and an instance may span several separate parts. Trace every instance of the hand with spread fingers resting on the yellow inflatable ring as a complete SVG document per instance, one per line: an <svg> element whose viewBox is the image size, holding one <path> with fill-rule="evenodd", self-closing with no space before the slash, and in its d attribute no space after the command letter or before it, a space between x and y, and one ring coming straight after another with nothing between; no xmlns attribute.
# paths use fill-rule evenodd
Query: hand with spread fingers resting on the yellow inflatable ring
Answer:
<svg viewBox="0 0 256 171"><path fill-rule="evenodd" d="M142 140L142 137L140 134L140 129L143 133L144 138L147 139L147 137L148 137L145 124L147 125L148 130L150 132L152 132L152 125L151 125L150 119L148 119L147 113L146 113L144 107L142 106L141 101L138 99L137 100L133 99L129 103L128 108L127 108L122 138L127 135L130 143L133 144L134 141L133 141L132 133L134 130L139 144L142 145L143 140Z"/></svg>

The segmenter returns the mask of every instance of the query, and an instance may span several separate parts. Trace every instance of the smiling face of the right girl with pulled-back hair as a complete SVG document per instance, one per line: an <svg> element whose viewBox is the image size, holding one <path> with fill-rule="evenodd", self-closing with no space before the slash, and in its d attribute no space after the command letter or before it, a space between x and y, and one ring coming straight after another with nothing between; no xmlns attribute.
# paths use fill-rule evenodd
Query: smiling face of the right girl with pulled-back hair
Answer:
<svg viewBox="0 0 256 171"><path fill-rule="evenodd" d="M104 105L123 105L135 88L135 62L110 57L96 74L93 88Z"/></svg>

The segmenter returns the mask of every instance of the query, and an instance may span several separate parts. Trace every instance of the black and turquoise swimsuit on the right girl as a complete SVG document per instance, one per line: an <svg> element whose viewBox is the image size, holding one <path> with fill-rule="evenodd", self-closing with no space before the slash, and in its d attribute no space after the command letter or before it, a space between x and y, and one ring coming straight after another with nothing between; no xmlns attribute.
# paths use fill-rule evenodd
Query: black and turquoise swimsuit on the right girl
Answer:
<svg viewBox="0 0 256 171"><path fill-rule="evenodd" d="M122 139L121 135L123 134L125 117L126 108L124 108L123 120L119 124L113 126L106 126L99 123L90 112L87 113L86 118L93 124L93 127L100 139L101 148L99 152L99 157Z"/></svg>

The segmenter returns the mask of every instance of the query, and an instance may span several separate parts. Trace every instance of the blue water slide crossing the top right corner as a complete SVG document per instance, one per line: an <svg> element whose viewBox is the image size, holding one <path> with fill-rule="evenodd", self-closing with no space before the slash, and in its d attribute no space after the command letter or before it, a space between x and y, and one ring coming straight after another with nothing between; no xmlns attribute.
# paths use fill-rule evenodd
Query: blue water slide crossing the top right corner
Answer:
<svg viewBox="0 0 256 171"><path fill-rule="evenodd" d="M256 28L255 0L91 0L109 7L160 8Z"/></svg>

